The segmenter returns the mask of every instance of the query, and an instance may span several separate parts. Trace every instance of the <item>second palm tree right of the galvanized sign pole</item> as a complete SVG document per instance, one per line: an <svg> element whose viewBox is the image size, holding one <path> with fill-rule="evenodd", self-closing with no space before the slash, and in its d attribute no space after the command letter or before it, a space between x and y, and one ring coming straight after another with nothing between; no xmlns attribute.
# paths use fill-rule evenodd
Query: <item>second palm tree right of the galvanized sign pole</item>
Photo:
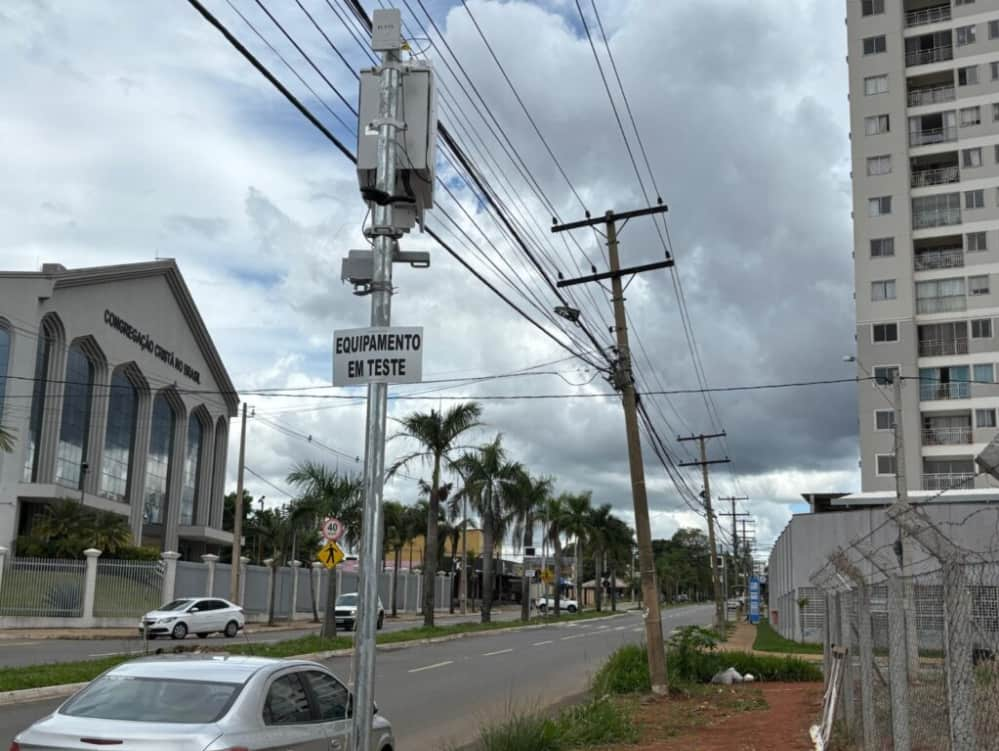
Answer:
<svg viewBox="0 0 999 751"><path fill-rule="evenodd" d="M502 540L510 525L510 496L517 478L524 469L520 464L507 460L503 436L497 434L492 443L475 452L466 453L458 460L465 478L463 492L482 523L482 622L492 619L493 607L493 551L496 541Z"/></svg>

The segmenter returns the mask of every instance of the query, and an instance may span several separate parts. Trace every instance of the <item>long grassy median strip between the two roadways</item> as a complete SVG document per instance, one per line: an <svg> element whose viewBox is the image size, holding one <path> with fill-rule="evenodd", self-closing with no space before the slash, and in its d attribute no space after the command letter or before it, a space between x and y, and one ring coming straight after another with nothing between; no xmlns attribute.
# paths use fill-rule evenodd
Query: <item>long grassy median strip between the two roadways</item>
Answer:
<svg viewBox="0 0 999 751"><path fill-rule="evenodd" d="M397 644L404 641L432 639L441 636L451 636L461 633L479 631L496 631L503 628L516 628L523 625L545 625L564 623L567 621L589 620L606 617L610 613L587 610L573 615L565 614L558 619L534 618L523 624L520 621L494 621L492 623L456 623L450 626L434 628L414 627L402 631L378 634L379 644ZM171 646L167 646L170 644ZM149 645L149 651L154 652L162 646L164 652L172 651L173 647L181 646L182 642L154 641ZM295 655L329 652L337 649L350 649L353 641L346 636L336 639L323 639L319 636L302 636L297 639L287 639L274 644L254 644L252 642L227 642L219 652L236 655L252 655L255 657L293 657ZM27 665L16 668L0 668L0 691L15 691L23 688L41 688L43 686L58 686L62 683L82 683L90 681L108 668L122 662L134 659L134 655L105 657L99 660L80 660L78 662L61 662L47 665Z"/></svg>

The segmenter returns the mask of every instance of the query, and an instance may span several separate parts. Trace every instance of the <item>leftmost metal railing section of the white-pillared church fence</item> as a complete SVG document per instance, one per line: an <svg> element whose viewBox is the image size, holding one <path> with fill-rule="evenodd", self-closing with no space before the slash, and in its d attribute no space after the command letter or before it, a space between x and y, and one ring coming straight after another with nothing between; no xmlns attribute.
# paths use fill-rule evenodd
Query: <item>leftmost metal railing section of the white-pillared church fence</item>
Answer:
<svg viewBox="0 0 999 751"><path fill-rule="evenodd" d="M0 587L0 615L81 617L85 572L85 561L11 559Z"/></svg>

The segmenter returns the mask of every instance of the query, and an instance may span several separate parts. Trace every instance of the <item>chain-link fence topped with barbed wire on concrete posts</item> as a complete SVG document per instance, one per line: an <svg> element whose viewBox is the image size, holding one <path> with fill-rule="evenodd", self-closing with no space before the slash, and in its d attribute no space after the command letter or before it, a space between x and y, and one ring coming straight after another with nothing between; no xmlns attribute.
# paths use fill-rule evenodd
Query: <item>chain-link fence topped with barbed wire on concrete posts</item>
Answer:
<svg viewBox="0 0 999 751"><path fill-rule="evenodd" d="M999 535L999 507L960 524ZM958 545L955 524L907 504L882 526L894 542L867 535L811 576L836 697L817 747L999 751L999 547Z"/></svg>

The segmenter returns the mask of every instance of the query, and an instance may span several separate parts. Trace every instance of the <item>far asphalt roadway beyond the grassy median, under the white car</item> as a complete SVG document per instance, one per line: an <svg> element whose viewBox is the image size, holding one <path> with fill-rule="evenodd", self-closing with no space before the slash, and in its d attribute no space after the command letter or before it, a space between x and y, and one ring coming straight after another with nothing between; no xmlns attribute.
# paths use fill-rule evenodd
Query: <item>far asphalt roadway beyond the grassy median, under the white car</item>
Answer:
<svg viewBox="0 0 999 751"><path fill-rule="evenodd" d="M520 610L516 608L506 608L501 612L493 614L495 620L514 620L520 617ZM438 615L437 622L440 624L461 623L462 621L478 621L479 614L469 613L467 616ZM401 631L402 629L415 628L422 625L422 621L405 620L393 621L391 618L385 619L384 631ZM253 624L250 625L253 630ZM264 633L240 634L232 640L232 643L245 643L250 641L254 644L273 644L287 639L296 639L300 636L319 633L319 626L303 625L301 629L294 631L267 631ZM350 634L344 634L349 636ZM178 644L185 647L196 646L198 644L209 644L221 646L227 642L221 634L209 636L206 639L191 637L183 642L177 642L169 638L159 638L149 643L150 651L158 647L171 649ZM23 639L7 641L0 639L0 665L3 667L24 667L26 665L41 665L48 662L73 662L75 660L91 660L98 657L110 657L120 654L143 654L142 639Z"/></svg>

